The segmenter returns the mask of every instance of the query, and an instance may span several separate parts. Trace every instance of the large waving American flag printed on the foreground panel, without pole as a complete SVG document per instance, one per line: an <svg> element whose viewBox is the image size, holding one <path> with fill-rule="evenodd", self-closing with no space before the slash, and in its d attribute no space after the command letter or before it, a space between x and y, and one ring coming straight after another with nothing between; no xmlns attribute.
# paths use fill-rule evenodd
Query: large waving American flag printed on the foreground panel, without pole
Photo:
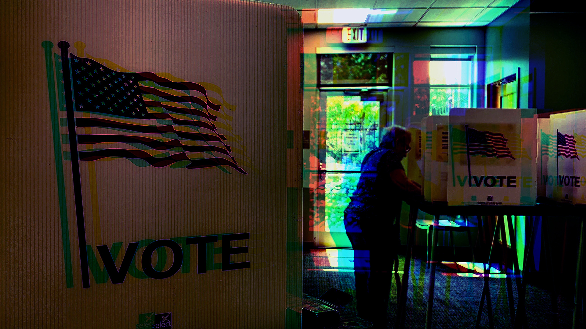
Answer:
<svg viewBox="0 0 586 329"><path fill-rule="evenodd" d="M118 72L93 59L71 56L71 77L81 161L122 157L154 167L231 167L246 172L217 131L206 88L151 72Z"/></svg>

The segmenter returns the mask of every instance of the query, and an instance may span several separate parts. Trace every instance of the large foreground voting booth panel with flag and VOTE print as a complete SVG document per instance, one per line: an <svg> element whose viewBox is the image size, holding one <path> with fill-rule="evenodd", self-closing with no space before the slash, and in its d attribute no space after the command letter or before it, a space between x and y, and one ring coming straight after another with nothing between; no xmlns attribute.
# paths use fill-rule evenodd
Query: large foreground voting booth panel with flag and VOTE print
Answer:
<svg viewBox="0 0 586 329"><path fill-rule="evenodd" d="M297 11L4 9L4 327L298 327Z"/></svg>

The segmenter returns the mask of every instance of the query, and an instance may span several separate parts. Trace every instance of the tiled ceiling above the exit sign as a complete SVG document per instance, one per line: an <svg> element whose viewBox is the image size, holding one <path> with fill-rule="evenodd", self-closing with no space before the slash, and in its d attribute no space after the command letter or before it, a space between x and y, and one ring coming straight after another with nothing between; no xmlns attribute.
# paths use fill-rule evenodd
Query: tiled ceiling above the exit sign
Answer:
<svg viewBox="0 0 586 329"><path fill-rule="evenodd" d="M397 13L369 15L372 27L462 27L485 26L519 0L264 0L288 5L302 13L305 28L326 28L336 25L316 24L316 9L370 8L397 9Z"/></svg>

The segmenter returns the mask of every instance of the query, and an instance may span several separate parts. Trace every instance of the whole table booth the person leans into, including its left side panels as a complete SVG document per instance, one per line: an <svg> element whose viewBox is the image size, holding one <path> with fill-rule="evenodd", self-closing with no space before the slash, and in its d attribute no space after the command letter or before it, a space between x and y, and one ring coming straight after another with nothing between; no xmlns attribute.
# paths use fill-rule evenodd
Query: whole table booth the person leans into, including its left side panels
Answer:
<svg viewBox="0 0 586 329"><path fill-rule="evenodd" d="M531 109L452 109L425 117L425 200L534 204L536 129Z"/></svg>

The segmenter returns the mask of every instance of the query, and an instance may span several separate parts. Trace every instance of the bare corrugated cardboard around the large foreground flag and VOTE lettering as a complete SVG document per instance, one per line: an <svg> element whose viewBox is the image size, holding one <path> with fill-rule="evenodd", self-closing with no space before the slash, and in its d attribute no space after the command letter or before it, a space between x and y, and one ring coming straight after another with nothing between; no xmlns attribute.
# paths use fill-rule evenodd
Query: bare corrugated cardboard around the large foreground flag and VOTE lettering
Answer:
<svg viewBox="0 0 586 329"><path fill-rule="evenodd" d="M10 1L0 6L0 323L5 328L138 328L155 314L171 312L172 328L285 327L287 292L301 289L297 12L240 1ZM81 283L71 161L67 153L56 152L53 139L54 129L67 135L65 111L55 112L53 106L60 106L61 97L54 56L60 40L71 44L72 54L105 59L110 68L205 85L214 102L223 104L217 121L247 172L142 167L124 158L81 161L87 250L94 262L87 289ZM57 137L67 152L69 144ZM60 163L58 155L65 156ZM230 260L250 262L250 268L223 271L217 265L222 235L232 233L250 233L250 239L230 245L248 246L248 252ZM182 238L206 235L220 240L214 249L208 245L214 253L206 273L198 274L198 247L183 244ZM142 247L159 239L178 241L184 256L182 268L161 280L145 276L140 261ZM124 283L97 283L104 265L96 246L121 244L120 268L131 242L141 244ZM171 250L164 250L152 258L154 265L166 254L162 270L173 263Z"/></svg>

